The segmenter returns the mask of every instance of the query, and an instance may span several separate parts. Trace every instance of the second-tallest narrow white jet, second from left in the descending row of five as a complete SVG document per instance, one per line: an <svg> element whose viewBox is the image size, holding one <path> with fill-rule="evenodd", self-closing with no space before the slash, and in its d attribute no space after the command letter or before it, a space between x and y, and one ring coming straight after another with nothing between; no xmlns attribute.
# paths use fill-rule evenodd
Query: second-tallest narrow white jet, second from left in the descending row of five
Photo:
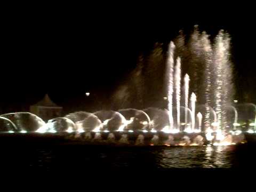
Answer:
<svg viewBox="0 0 256 192"><path fill-rule="evenodd" d="M177 58L175 66L175 92L176 92L176 107L177 107L177 129L180 131L180 79L181 79L181 64L180 58Z"/></svg>

